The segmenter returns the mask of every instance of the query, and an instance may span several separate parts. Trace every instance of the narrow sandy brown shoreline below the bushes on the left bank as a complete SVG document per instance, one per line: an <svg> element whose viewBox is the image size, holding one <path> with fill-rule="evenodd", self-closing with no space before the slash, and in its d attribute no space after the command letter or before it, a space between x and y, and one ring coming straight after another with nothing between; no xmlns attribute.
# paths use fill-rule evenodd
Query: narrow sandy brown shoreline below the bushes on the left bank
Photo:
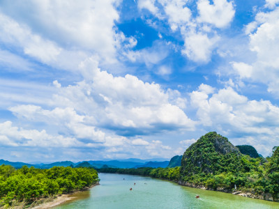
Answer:
<svg viewBox="0 0 279 209"><path fill-rule="evenodd" d="M31 209L46 209L46 208L53 208L55 206L59 206L61 203L65 203L67 201L73 200L73 199L77 199L77 196L73 196L73 194L78 194L80 192L85 192L89 189L91 189L92 187L95 187L96 185L100 185L100 183L96 183L94 185L91 185L90 187L85 187L84 189L77 191L77 192L73 192L73 193L69 193L69 194L61 194L61 196L56 196L56 198L47 201L48 199L43 199L43 203L40 203L38 206L33 206L30 207Z"/></svg>

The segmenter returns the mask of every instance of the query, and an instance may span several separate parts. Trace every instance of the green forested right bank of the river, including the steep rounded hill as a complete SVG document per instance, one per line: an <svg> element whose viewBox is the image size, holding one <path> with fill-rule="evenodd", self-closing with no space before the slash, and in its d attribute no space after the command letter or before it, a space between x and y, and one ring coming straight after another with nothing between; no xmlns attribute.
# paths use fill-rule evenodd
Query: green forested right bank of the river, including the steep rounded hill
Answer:
<svg viewBox="0 0 279 209"><path fill-rule="evenodd" d="M278 201L279 147L273 148L271 157L254 158L243 155L227 138L209 132L186 150L181 167L98 171L163 178L223 192L250 192L260 199Z"/></svg>

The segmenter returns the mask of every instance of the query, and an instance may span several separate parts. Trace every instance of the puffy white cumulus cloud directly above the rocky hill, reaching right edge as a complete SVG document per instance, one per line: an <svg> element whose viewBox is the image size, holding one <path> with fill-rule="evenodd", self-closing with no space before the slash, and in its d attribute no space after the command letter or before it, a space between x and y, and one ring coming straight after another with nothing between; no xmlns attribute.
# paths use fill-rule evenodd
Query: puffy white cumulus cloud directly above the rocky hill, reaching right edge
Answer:
<svg viewBox="0 0 279 209"><path fill-rule="evenodd" d="M246 96L228 87L212 95L202 89L193 91L190 102L197 108L199 123L204 127L216 130L241 144L253 144L248 139L260 141L265 145L260 149L265 155L266 150L274 146L274 140L278 140L279 107L268 100L248 100Z"/></svg>

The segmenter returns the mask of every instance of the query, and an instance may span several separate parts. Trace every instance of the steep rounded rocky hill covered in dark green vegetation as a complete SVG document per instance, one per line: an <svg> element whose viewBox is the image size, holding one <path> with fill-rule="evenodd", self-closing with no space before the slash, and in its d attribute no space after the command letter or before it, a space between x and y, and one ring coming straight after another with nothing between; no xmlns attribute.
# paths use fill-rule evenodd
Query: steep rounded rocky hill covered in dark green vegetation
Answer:
<svg viewBox="0 0 279 209"><path fill-rule="evenodd" d="M227 138L216 132L200 137L184 153L181 160L181 178L201 173L218 174L242 169L241 153Z"/></svg>

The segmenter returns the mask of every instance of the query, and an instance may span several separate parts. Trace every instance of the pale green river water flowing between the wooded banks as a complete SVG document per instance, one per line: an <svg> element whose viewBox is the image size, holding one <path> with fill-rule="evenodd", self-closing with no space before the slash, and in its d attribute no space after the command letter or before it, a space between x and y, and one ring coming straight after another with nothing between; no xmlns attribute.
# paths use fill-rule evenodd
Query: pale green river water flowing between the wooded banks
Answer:
<svg viewBox="0 0 279 209"><path fill-rule="evenodd" d="M75 199L55 208L279 208L279 203L272 201L182 187L155 178L110 173L100 173L99 178L100 185L74 194Z"/></svg>

